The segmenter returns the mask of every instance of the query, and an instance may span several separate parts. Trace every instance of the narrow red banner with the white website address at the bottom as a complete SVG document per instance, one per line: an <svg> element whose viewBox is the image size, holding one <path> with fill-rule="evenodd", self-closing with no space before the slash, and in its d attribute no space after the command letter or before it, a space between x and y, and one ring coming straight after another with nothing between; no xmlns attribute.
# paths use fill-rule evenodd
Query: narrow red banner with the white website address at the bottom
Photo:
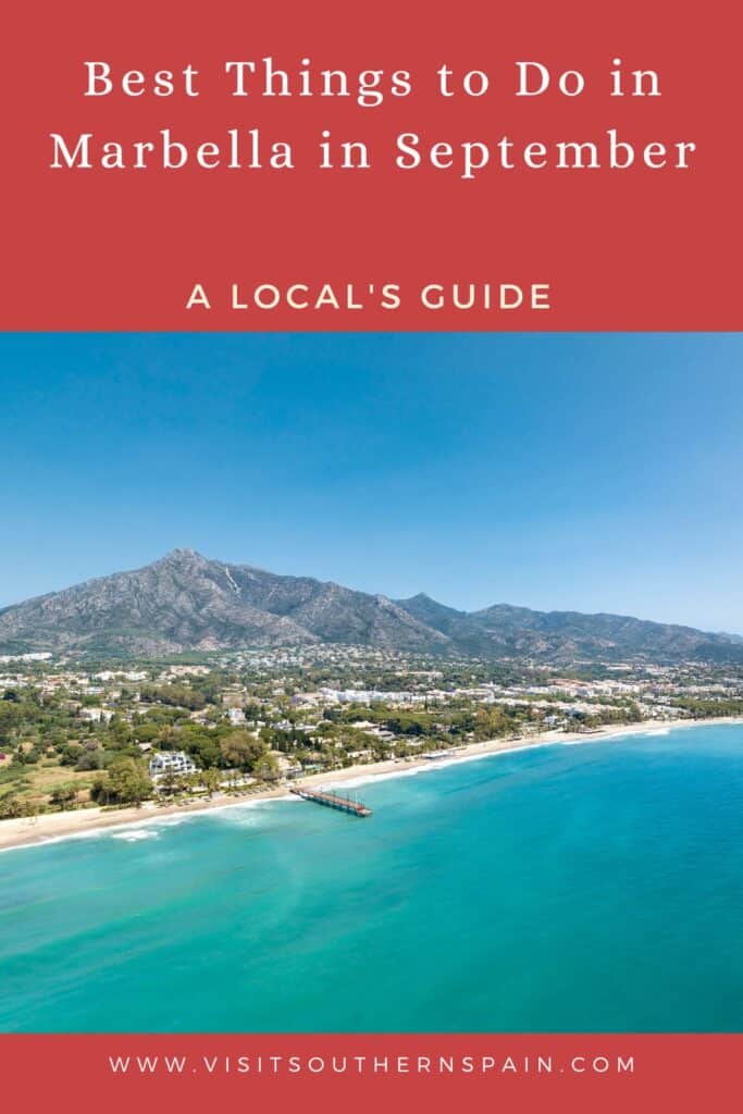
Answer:
<svg viewBox="0 0 743 1114"><path fill-rule="evenodd" d="M532 1114L740 1107L740 1036L4 1036L3 1094L33 1112Z"/></svg>

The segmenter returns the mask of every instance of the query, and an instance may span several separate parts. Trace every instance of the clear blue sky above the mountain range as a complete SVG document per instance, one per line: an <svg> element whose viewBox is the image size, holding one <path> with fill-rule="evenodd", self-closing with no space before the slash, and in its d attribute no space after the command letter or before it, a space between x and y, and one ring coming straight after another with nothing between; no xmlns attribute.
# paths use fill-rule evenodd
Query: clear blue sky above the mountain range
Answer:
<svg viewBox="0 0 743 1114"><path fill-rule="evenodd" d="M743 632L743 336L3 334L0 605L207 556Z"/></svg>

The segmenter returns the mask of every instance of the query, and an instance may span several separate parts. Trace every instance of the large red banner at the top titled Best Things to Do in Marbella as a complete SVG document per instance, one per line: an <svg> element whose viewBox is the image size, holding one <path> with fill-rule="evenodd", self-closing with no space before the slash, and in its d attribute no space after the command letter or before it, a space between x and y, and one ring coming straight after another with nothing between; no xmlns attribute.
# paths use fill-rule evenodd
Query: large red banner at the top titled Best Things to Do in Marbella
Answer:
<svg viewBox="0 0 743 1114"><path fill-rule="evenodd" d="M0 326L737 329L731 14L16 4Z"/></svg>

